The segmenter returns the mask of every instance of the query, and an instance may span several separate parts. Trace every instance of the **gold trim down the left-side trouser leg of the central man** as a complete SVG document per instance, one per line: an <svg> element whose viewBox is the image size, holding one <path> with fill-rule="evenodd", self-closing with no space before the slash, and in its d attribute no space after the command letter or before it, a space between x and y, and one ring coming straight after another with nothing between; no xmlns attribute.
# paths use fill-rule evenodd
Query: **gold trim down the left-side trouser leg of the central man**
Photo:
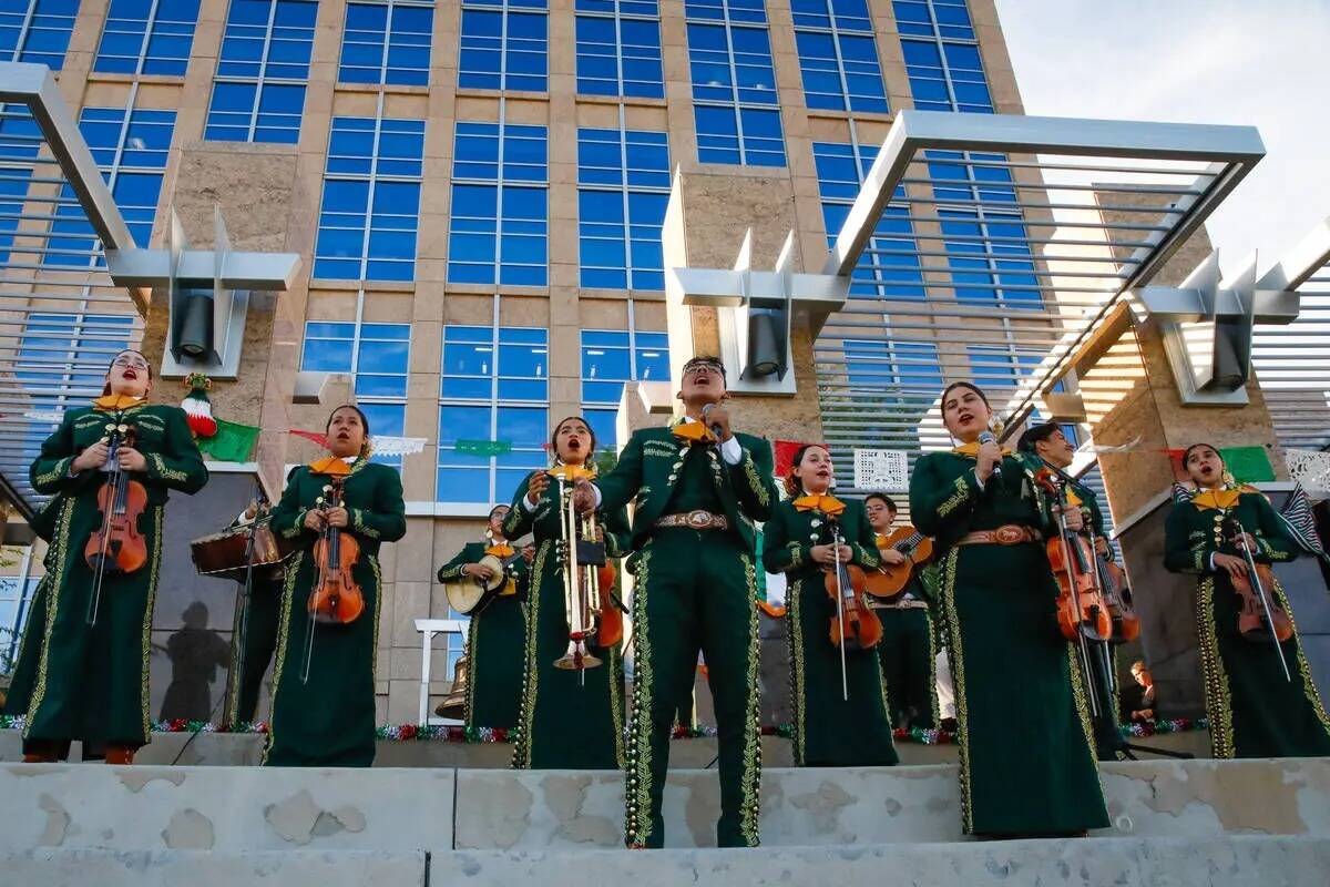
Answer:
<svg viewBox="0 0 1330 887"><path fill-rule="evenodd" d="M645 844L652 835L652 641L646 633L646 589L652 549L637 560L633 588L633 709L628 721L624 785L624 842Z"/></svg>

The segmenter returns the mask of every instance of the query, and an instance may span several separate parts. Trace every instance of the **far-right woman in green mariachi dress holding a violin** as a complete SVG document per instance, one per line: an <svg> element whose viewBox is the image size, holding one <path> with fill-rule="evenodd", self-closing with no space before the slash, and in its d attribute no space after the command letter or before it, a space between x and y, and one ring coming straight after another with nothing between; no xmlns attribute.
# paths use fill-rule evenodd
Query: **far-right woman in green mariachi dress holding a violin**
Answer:
<svg viewBox="0 0 1330 887"><path fill-rule="evenodd" d="M1278 515L1260 491L1232 483L1210 444L1188 447L1182 464L1196 492L1169 512L1164 564L1198 577L1196 626L1213 757L1330 755L1330 719L1289 598L1269 567L1297 556Z"/></svg>

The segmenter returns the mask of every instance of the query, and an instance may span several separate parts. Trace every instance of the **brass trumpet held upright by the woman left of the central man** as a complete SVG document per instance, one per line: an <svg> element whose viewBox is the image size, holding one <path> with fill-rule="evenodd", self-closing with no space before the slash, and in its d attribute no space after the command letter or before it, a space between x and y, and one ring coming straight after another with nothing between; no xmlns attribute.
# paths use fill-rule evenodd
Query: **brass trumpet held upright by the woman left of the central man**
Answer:
<svg viewBox="0 0 1330 887"><path fill-rule="evenodd" d="M580 479L596 477L595 468L556 464L549 476L559 483L559 524L563 539L559 560L563 567L564 608L568 613L568 650L555 660L555 668L581 670L601 664L587 646L595 641L601 617L600 572L605 567L605 545L600 541L596 512L579 515L573 489Z"/></svg>

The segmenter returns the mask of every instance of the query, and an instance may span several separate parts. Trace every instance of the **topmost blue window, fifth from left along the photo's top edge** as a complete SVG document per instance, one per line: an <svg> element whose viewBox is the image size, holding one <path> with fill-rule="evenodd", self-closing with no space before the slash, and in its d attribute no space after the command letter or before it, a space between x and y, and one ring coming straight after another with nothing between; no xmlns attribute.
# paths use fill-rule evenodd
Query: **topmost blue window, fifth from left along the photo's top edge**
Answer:
<svg viewBox="0 0 1330 887"><path fill-rule="evenodd" d="M544 0L463 0L458 86L545 92L545 8Z"/></svg>

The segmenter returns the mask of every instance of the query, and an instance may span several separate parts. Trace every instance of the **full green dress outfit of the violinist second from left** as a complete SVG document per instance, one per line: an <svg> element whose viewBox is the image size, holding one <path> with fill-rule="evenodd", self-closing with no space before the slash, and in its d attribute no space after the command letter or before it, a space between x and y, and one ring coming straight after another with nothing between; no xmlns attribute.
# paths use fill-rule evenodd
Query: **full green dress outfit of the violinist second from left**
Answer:
<svg viewBox="0 0 1330 887"><path fill-rule="evenodd" d="M273 714L267 729L266 766L368 767L374 763L374 658L379 638L379 547L407 532L402 477L396 469L356 459L344 476L343 528L360 545L351 570L364 612L346 625L315 624L310 646L309 598L318 581L314 543L305 527L331 479L301 465L286 479L282 501L273 509L273 532L297 540L299 551L286 563L282 630L273 677ZM309 680L303 672L309 657Z"/></svg>

